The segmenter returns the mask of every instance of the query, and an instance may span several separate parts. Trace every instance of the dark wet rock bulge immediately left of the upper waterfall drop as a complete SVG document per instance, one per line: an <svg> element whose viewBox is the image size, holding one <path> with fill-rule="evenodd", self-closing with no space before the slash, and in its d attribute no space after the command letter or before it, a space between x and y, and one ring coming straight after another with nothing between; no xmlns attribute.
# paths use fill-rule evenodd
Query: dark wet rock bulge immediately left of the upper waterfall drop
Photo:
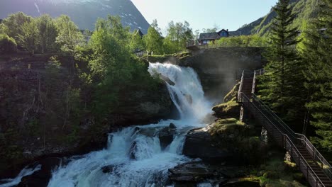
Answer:
<svg viewBox="0 0 332 187"><path fill-rule="evenodd" d="M110 118L114 125L120 126L155 123L170 118L175 108L165 82L153 91L144 88L123 90L118 99L121 106L111 113Z"/></svg>

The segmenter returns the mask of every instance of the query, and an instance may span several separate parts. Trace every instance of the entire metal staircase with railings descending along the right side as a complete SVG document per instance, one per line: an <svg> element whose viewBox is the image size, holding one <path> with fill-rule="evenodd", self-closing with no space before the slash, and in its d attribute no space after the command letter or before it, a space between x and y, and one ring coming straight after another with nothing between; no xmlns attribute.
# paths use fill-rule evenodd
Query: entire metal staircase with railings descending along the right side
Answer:
<svg viewBox="0 0 332 187"><path fill-rule="evenodd" d="M262 69L249 73L243 71L238 102L258 120L277 145L287 149L311 186L332 186L332 167L316 147L304 135L289 128L255 95L256 76L263 73Z"/></svg>

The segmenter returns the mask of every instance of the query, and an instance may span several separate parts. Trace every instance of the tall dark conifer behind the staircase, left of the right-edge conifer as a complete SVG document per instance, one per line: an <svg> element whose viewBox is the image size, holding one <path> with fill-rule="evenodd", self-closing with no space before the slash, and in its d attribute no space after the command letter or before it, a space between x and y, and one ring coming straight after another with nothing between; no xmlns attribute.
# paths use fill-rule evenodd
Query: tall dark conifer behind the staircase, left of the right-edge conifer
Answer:
<svg viewBox="0 0 332 187"><path fill-rule="evenodd" d="M298 31L291 28L294 14L289 0L280 0L274 7L277 16L272 22L270 47L264 56L266 74L260 78L260 94L273 111L295 122L304 115L303 64L297 55Z"/></svg>

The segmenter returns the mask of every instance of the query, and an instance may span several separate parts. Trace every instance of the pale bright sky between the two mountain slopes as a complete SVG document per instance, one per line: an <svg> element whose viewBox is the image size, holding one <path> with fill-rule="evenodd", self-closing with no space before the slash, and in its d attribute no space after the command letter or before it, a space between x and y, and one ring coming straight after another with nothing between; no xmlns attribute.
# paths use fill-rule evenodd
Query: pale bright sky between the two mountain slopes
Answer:
<svg viewBox="0 0 332 187"><path fill-rule="evenodd" d="M194 30L237 30L270 12L277 0L131 0L148 23L157 19L162 30L170 21L188 21Z"/></svg>

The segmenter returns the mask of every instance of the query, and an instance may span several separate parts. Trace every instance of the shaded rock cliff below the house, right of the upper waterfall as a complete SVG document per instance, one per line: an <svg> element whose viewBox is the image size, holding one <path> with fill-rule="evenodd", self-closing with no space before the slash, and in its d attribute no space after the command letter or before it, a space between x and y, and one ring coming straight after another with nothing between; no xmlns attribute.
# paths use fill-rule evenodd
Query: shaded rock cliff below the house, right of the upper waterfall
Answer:
<svg viewBox="0 0 332 187"><path fill-rule="evenodd" d="M264 63L262 48L222 47L200 50L176 62L192 67L199 74L206 96L222 101L240 79L243 69L260 69Z"/></svg>

